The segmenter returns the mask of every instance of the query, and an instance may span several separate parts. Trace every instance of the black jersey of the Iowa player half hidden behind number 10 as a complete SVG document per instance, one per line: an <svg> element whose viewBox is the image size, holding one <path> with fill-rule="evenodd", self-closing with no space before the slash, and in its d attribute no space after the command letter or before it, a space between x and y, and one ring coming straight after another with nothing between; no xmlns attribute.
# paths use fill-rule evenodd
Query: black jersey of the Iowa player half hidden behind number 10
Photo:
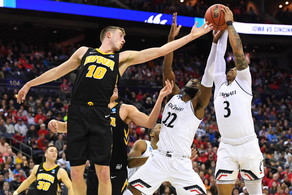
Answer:
<svg viewBox="0 0 292 195"><path fill-rule="evenodd" d="M123 122L120 117L121 103L116 105L110 110L110 125L113 131L113 147L112 156L109 162L109 166L116 169L127 168L128 155L128 133L129 125Z"/></svg>

